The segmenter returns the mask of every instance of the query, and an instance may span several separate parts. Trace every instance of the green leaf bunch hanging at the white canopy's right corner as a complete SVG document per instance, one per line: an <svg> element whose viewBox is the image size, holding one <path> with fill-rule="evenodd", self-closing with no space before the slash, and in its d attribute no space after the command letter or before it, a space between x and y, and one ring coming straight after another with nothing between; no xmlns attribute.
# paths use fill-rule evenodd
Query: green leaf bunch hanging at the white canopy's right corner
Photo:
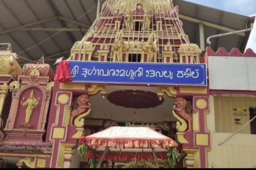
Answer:
<svg viewBox="0 0 256 170"><path fill-rule="evenodd" d="M180 152L176 148L169 147L167 152L167 162L165 166L168 168L175 168L175 166L177 165L177 161L179 162L180 159Z"/></svg>

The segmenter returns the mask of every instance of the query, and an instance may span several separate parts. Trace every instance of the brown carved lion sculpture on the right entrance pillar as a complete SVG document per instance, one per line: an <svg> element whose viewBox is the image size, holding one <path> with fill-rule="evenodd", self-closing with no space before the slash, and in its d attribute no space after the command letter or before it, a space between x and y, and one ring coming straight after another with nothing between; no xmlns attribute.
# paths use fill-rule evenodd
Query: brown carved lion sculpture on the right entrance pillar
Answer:
<svg viewBox="0 0 256 170"><path fill-rule="evenodd" d="M180 118L182 118L183 120L185 120L188 123L188 130L187 131L192 131L192 115L186 113L186 109L187 109L186 99L184 99L182 97L177 97L175 99L174 105L176 106L175 108L173 108L175 113Z"/></svg>

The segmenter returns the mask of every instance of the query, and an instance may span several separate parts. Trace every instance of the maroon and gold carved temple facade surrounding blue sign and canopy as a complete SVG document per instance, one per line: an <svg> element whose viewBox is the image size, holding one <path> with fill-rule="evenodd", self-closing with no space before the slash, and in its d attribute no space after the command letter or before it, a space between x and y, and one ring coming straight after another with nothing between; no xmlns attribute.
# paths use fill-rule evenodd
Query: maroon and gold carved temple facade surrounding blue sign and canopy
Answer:
<svg viewBox="0 0 256 170"><path fill-rule="evenodd" d="M83 40L74 44L67 61L207 65L208 58L213 56L256 56L251 49L242 54L236 48L230 53L224 48L217 52L207 48L201 56L200 48L189 43L184 34L178 7L173 7L171 1L168 4L161 1L160 6L153 1L120 2L109 0L103 5L101 16ZM153 128L179 143L184 156L178 167L210 166L211 129L207 115L214 109L210 108L210 96L231 92L211 90L209 85L54 81L55 72L43 58L37 64L21 68L10 44L7 46L0 51L2 167L86 168L87 157L77 154L79 138L111 126ZM57 75L61 72L58 67ZM159 108L152 109L152 102ZM163 103L167 105L160 108ZM126 116L130 110L124 109L131 105L135 108L133 114ZM181 110L189 108L188 112L177 112L174 105ZM167 118L160 112L169 112L171 116ZM129 156L119 154L106 158L108 167L127 167L132 161ZM159 161L164 164L165 160Z"/></svg>

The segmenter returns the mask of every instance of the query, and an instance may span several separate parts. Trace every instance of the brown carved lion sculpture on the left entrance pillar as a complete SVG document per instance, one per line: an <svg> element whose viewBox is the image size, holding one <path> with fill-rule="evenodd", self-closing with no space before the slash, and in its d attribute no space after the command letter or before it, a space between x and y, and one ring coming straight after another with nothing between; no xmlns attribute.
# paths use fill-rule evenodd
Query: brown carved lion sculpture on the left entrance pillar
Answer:
<svg viewBox="0 0 256 170"><path fill-rule="evenodd" d="M77 106L76 110L73 110L71 112L70 125L73 125L76 117L84 114L91 108L89 102L90 102L90 100L89 100L89 96L87 94L83 94L77 98L78 106Z"/></svg>

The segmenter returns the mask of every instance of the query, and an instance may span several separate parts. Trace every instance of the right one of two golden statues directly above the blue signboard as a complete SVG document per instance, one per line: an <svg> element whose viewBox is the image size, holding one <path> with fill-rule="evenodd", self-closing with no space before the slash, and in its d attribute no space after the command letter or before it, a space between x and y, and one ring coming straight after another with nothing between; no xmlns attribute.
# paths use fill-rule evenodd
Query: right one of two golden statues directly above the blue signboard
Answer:
<svg viewBox="0 0 256 170"><path fill-rule="evenodd" d="M152 33L146 44L142 45L142 50L147 54L147 62L152 62L154 52L158 49L157 41L154 41L154 34Z"/></svg>

